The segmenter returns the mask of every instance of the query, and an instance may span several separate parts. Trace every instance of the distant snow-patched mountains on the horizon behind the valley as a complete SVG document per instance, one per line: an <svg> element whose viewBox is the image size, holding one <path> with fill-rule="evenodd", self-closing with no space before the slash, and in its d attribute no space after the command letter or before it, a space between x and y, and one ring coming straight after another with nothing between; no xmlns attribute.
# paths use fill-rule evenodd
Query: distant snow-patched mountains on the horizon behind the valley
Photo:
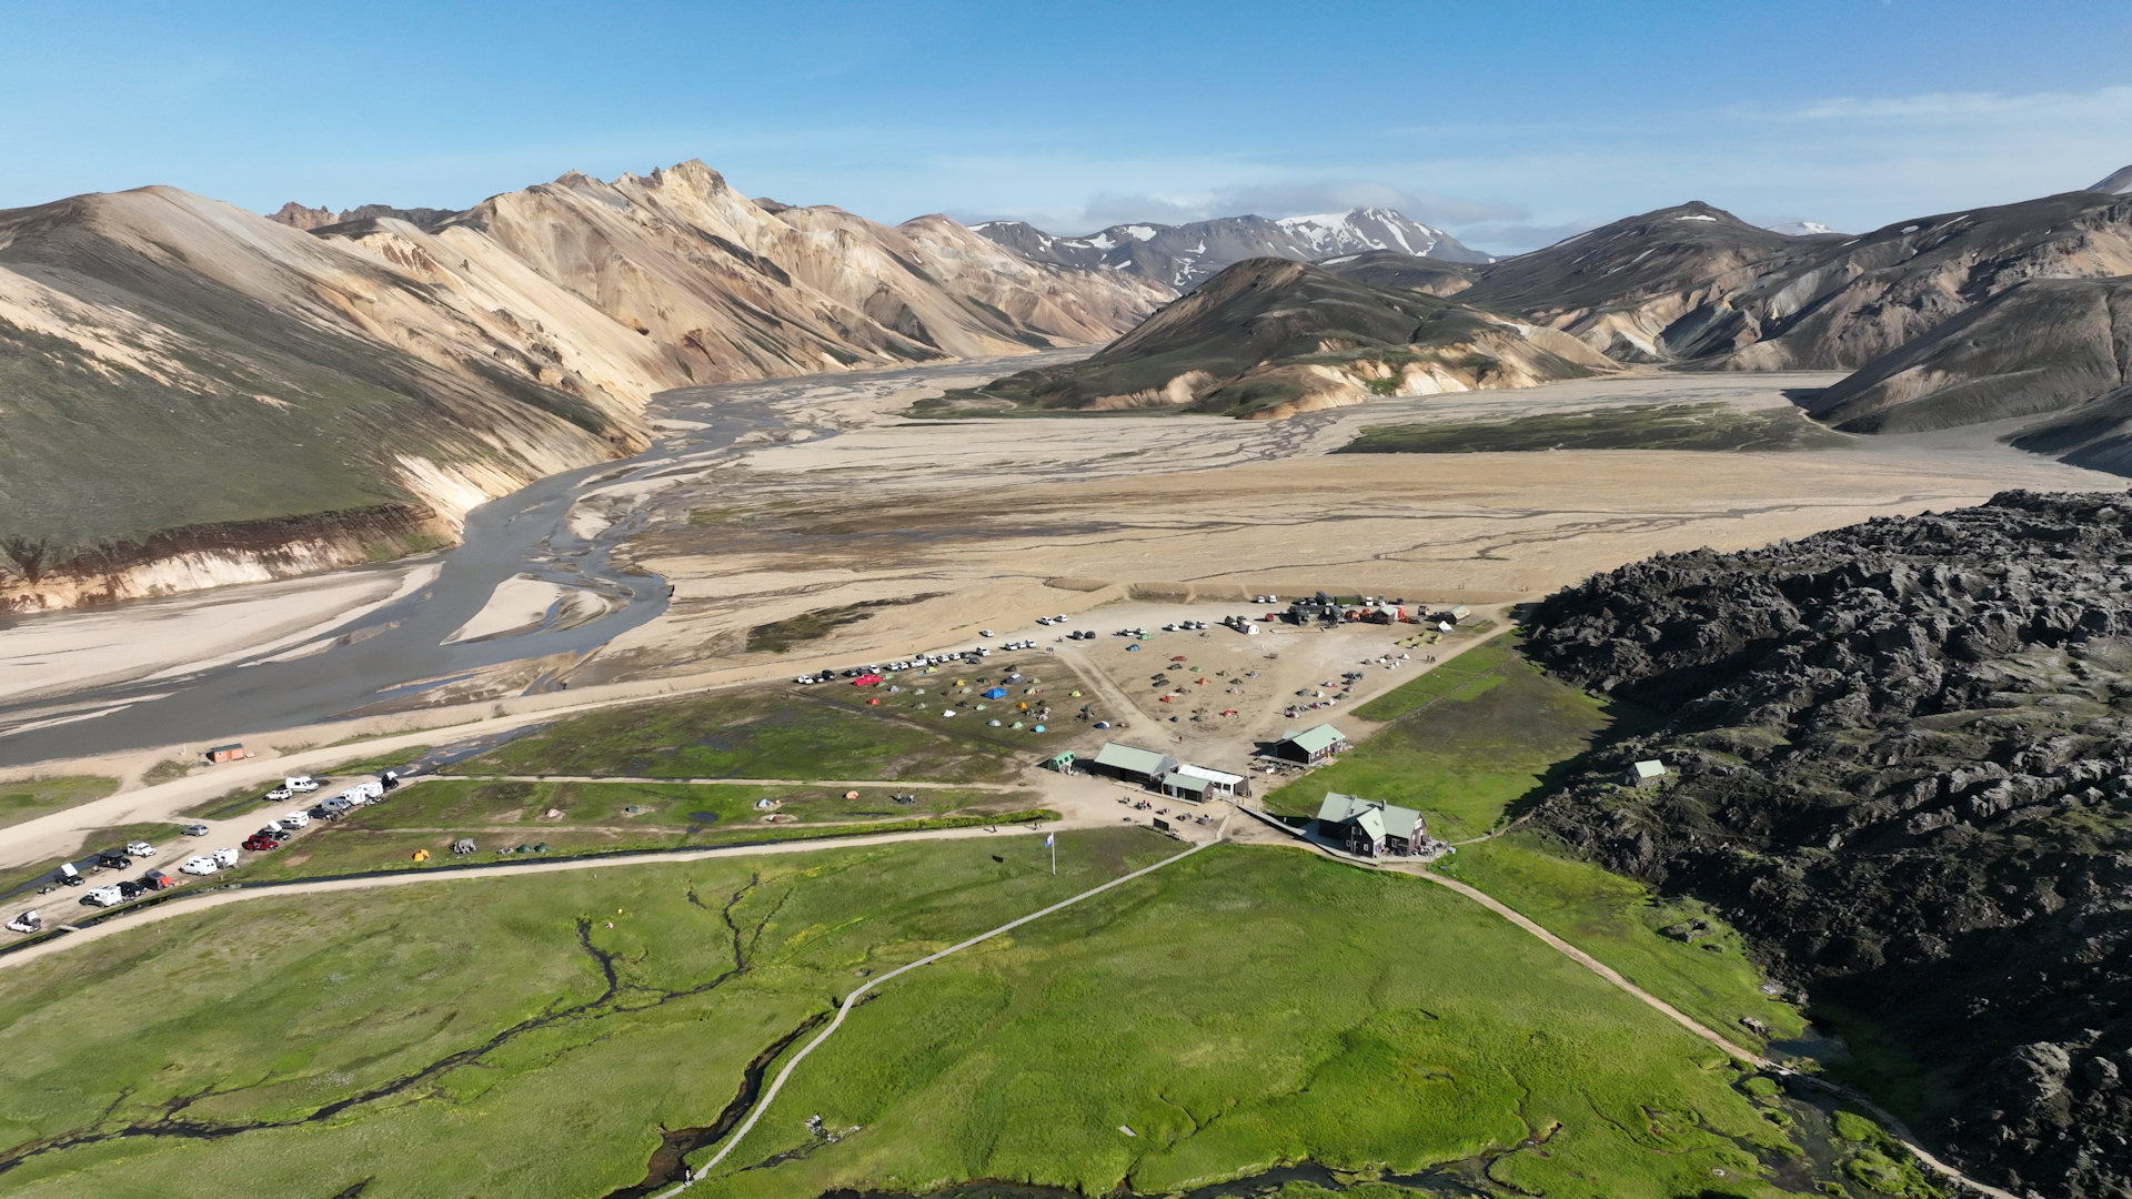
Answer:
<svg viewBox="0 0 2132 1199"><path fill-rule="evenodd" d="M1019 220L970 226L1034 258L1081 271L1126 271L1190 290L1245 258L1313 262L1341 254L1392 250L1445 262L1492 262L1441 228L1392 209L1322 215L1230 215L1192 224L1113 224L1089 237L1057 237Z"/></svg>

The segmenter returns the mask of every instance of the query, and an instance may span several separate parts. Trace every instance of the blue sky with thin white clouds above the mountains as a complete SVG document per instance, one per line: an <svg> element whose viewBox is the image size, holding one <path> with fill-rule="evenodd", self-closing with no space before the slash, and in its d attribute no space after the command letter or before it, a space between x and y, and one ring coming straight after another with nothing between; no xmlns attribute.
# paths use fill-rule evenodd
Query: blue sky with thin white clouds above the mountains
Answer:
<svg viewBox="0 0 2132 1199"><path fill-rule="evenodd" d="M2132 4L0 0L0 207L467 207L689 158L1053 233L1388 205L1492 252L1691 198L1868 230L2132 162Z"/></svg>

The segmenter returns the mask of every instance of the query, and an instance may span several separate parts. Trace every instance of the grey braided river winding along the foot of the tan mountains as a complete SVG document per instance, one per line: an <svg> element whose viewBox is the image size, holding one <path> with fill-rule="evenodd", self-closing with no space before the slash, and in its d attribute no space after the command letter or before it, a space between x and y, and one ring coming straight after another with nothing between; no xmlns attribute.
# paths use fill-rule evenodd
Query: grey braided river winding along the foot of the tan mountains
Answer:
<svg viewBox="0 0 2132 1199"><path fill-rule="evenodd" d="M1013 363L1021 367L1057 356L1066 354ZM648 450L554 474L475 508L467 514L461 544L437 555L439 574L429 587L324 632L322 638L337 642L330 649L286 661L269 661L277 653L262 649L179 678L141 678L0 704L0 728L9 717L26 713L64 721L0 734L0 766L330 721L488 666L597 649L665 612L667 582L629 570L627 555L616 557L642 531L642 514L614 521L588 538L576 535L569 512L580 495L678 469L712 467L744 454L742 439L757 444L761 435L797 433L802 429L789 422L787 412L804 407L810 395L887 395L983 371L983 363L953 363L661 393L652 399L650 416L672 431ZM806 433L829 435L825 429ZM588 589L612 604L612 610L574 627L443 644L488 604L499 582L518 574ZM72 612L53 612L26 617L15 625L70 617ZM68 719L83 713L98 715Z"/></svg>

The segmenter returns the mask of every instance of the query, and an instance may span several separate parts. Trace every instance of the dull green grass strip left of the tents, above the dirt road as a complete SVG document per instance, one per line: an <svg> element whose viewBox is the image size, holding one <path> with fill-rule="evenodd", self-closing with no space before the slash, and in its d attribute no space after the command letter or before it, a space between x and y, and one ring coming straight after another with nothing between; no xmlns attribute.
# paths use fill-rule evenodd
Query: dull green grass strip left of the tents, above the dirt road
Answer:
<svg viewBox="0 0 2132 1199"><path fill-rule="evenodd" d="M983 674L983 672L979 672ZM904 676L906 681L910 676ZM927 696L881 696L866 708L846 696L812 698L753 691L586 713L446 770L452 774L578 774L637 779L923 779L936 783L1004 781L1051 738L987 730L983 713L942 719L936 689L949 674L923 676ZM836 687L827 687L834 691ZM885 689L872 689L885 691Z"/></svg>

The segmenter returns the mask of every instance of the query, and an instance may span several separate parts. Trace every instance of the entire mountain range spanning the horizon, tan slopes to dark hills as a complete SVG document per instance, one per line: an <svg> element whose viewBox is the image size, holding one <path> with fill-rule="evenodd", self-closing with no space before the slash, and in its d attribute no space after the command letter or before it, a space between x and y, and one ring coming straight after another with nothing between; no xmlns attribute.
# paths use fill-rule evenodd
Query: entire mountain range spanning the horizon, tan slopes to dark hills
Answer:
<svg viewBox="0 0 2132 1199"><path fill-rule="evenodd" d="M883 226L701 162L463 211L75 196L0 211L0 608L450 540L642 446L665 388L1128 331L972 399L1269 418L1614 365L1842 369L1808 407L1846 431L2017 420L2023 448L2132 471L2128 188L1855 237L1691 201L1503 260L1390 209Z"/></svg>

